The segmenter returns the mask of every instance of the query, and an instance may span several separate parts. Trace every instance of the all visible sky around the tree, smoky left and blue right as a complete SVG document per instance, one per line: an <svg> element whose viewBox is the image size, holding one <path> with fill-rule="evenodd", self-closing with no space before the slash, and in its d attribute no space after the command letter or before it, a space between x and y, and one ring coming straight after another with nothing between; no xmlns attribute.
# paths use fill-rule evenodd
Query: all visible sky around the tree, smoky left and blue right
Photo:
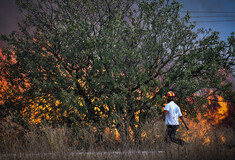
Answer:
<svg viewBox="0 0 235 160"><path fill-rule="evenodd" d="M235 32L235 0L178 0L178 2L184 5L182 11L190 11L191 20L197 22L197 28L211 28L213 31L218 31L221 40L226 40L231 32ZM17 23L21 18L15 0L0 0L0 34L9 34L17 30ZM0 41L0 48L3 45L4 43ZM235 79L233 81L235 82Z"/></svg>

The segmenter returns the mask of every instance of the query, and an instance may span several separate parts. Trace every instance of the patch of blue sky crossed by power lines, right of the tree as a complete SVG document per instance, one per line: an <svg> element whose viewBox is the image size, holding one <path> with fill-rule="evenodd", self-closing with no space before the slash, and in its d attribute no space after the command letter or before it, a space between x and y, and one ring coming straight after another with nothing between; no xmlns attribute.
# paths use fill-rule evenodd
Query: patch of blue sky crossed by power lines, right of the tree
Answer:
<svg viewBox="0 0 235 160"><path fill-rule="evenodd" d="M235 0L178 0L183 11L191 11L191 20L197 27L220 32L221 40L227 40L235 32Z"/></svg>

